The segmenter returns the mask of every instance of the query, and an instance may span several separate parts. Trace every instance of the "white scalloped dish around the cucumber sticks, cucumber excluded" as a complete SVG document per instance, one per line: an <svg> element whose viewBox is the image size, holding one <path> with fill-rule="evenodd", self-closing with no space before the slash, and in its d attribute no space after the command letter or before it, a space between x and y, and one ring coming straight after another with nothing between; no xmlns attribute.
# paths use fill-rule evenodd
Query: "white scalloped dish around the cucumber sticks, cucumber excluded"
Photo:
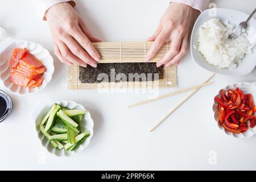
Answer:
<svg viewBox="0 0 256 182"><path fill-rule="evenodd" d="M43 119L43 117L48 113L48 111L51 109L53 104L58 104L63 107L67 107L68 109L79 109L79 110L85 110L86 114L82 118L80 127L82 132L89 131L90 132L90 137L88 137L83 144L77 148L75 151L65 151L59 150L57 148L53 148L51 144L49 144L48 139L44 137L44 135L40 132L39 130L39 125ZM51 103L46 103L46 102L40 102L34 109L34 111L31 114L32 119L35 122L35 127L36 127L36 132L38 134L38 138L41 141L42 145L47 148L47 151L50 152L51 154L55 154L56 156L72 156L76 154L77 152L81 152L84 150L85 147L87 147L90 143L90 139L93 136L93 119L90 116L90 113L88 110L84 108L84 106L80 104L76 104L76 102L72 101L56 101L56 102L51 102Z"/></svg>

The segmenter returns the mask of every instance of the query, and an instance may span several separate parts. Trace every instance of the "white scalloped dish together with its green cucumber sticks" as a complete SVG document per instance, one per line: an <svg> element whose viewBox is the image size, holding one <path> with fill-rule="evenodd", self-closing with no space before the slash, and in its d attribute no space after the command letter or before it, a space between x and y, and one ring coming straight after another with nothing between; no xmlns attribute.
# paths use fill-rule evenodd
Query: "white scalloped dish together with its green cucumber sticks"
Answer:
<svg viewBox="0 0 256 182"><path fill-rule="evenodd" d="M57 156L71 156L84 150L93 136L93 119L76 102L40 102L31 117L42 145Z"/></svg>

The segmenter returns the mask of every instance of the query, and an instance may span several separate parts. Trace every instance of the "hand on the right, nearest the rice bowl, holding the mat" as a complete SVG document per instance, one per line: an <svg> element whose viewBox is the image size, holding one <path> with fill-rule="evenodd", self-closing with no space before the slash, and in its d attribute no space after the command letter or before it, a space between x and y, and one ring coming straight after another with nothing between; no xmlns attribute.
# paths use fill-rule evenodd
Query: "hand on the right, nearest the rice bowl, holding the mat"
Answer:
<svg viewBox="0 0 256 182"><path fill-rule="evenodd" d="M182 3L172 2L162 16L158 28L148 41L155 41L146 55L150 61L167 41L171 41L170 50L156 63L157 67L177 64L187 53L188 40L200 11Z"/></svg>

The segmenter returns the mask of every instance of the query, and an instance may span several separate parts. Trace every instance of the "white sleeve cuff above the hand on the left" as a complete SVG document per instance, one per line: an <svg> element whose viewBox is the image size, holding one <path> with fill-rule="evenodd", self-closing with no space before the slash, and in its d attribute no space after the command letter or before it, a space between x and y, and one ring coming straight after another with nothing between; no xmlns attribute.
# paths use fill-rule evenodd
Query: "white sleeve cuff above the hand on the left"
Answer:
<svg viewBox="0 0 256 182"><path fill-rule="evenodd" d="M74 0L33 0L33 2L35 3L35 6L38 9L38 13L43 20L46 20L46 11L57 3L69 2L73 7L76 6L76 2Z"/></svg>

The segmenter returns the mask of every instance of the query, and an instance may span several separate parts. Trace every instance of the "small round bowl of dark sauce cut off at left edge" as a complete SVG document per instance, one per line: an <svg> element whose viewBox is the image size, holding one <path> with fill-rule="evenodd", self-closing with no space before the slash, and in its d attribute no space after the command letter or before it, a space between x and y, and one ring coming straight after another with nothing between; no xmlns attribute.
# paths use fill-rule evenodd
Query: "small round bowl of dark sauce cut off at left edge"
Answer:
<svg viewBox="0 0 256 182"><path fill-rule="evenodd" d="M1 111L0 111L0 123L7 119L11 114L11 110L13 109L13 102L11 101L11 97L9 94L0 90L0 100L1 100ZM5 105L6 104L6 105Z"/></svg>

